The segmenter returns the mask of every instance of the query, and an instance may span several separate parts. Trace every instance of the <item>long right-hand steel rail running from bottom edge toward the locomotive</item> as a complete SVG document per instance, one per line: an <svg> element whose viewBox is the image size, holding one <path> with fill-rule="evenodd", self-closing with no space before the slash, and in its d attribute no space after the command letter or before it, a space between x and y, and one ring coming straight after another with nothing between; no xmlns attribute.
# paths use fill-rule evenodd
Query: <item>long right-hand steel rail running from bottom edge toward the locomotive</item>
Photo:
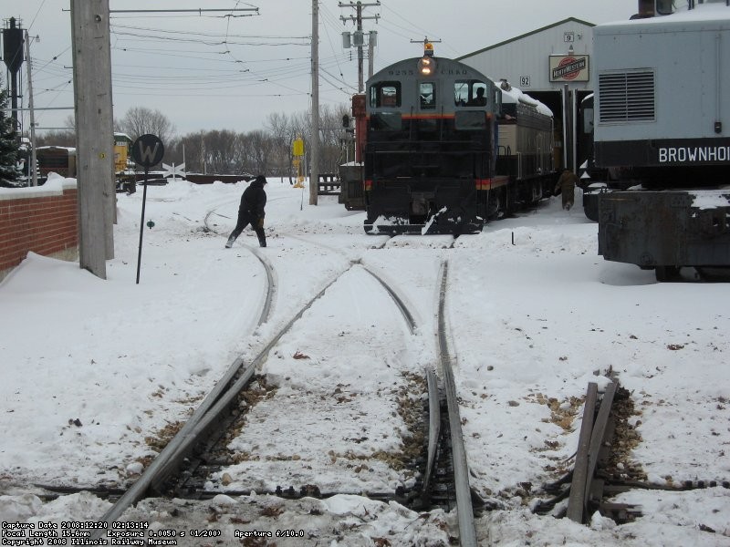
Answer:
<svg viewBox="0 0 730 547"><path fill-rule="evenodd" d="M443 386L446 390L446 405L449 410L449 428L454 459L454 489L456 490L456 512L459 521L459 543L462 547L476 547L474 508L469 489L469 468L466 462L462 422L459 416L459 402L456 399L454 371L451 366L448 340L446 338L446 281L449 272L448 261L443 261L441 289L439 291L438 341L443 372Z"/></svg>

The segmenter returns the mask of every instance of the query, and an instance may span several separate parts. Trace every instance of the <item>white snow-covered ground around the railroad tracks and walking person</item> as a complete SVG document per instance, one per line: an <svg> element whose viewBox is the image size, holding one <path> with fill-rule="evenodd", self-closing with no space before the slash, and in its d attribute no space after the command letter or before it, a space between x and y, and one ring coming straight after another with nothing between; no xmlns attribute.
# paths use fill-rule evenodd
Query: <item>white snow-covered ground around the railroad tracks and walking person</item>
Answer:
<svg viewBox="0 0 730 547"><path fill-rule="evenodd" d="M275 179L266 186L266 249L249 229L226 250L244 189L245 182L150 187L144 222L155 225L144 230L140 284L141 191L118 196L107 280L78 263L31 253L0 283L0 521L99 518L108 502L89 493L46 502L37 485L130 484L154 454L150 439L184 420L236 357L255 356L344 272L261 370L291 398L291 410L256 406L249 430L235 440L287 465L280 476L259 474L254 483L255 466L239 464L227 470L227 487L267 490L296 477L319 478L328 490L382 491L407 482L386 466L354 478L339 473L330 451L351 436L352 415L297 406L296 396L305 380L330 394L339 385L367 417L358 427L377 431L382 449L397 449L401 417L380 411L387 394L372 394L435 362L433 306L439 268L448 260L447 315L471 483L497 507L477 523L480 542L730 545L730 490L722 486L621 494L616 501L643 512L622 525L598 515L589 526L537 516L526 493L568 469L581 399L589 381L605 386L609 370L634 408L629 425L638 442L627 448L627 469L659 485L730 480L728 284L657 284L652 272L604 262L597 225L580 207L562 211L559 199L444 248L441 237L367 236L362 212L326 196L309 206L308 190ZM276 276L264 325L257 325L266 293L260 260ZM397 286L414 312L414 334L379 285L352 266L357 261ZM353 333L363 321L369 331ZM347 345L341 333L348 333ZM409 351L395 353L399 345ZM297 359L297 352L310 358ZM305 427L306 439L297 439ZM148 500L125 519L188 534L221 532L178 536L184 545L242 544L236 530L287 529L304 531L304 538L274 537L270 544L445 545L456 531L454 514L418 514L362 496L231 498L219 480L212 486L221 494L203 508Z"/></svg>

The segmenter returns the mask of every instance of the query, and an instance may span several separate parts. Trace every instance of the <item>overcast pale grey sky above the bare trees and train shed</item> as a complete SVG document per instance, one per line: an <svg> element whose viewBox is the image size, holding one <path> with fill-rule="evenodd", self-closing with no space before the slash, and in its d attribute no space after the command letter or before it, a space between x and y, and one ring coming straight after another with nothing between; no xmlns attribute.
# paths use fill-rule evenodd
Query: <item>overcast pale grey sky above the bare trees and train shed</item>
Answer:
<svg viewBox="0 0 730 547"><path fill-rule="evenodd" d="M319 2L320 105L349 102L357 91L357 49L344 49L341 33L354 30L340 17L355 15L338 0ZM348 4L343 2L343 4ZM375 4L365 0L363 4ZM73 107L68 0L4 0L4 20L20 18L30 36L36 108ZM381 0L368 6L363 28L378 32L375 70L421 55L412 40L441 40L436 55L458 57L568 17L589 23L628 19L636 0ZM119 13L134 9L247 9L203 14ZM158 109L179 135L201 129L250 131L274 112L309 108L311 89L309 0L110 0L114 117L129 108ZM118 13L114 13L117 10ZM257 15L255 15L257 13ZM367 53L367 48L366 48ZM364 72L367 78L368 61ZM26 65L22 67L26 89ZM6 85L6 72L3 75ZM24 98L24 106L27 99ZM72 113L37 110L36 126L57 128ZM28 114L24 113L28 127Z"/></svg>

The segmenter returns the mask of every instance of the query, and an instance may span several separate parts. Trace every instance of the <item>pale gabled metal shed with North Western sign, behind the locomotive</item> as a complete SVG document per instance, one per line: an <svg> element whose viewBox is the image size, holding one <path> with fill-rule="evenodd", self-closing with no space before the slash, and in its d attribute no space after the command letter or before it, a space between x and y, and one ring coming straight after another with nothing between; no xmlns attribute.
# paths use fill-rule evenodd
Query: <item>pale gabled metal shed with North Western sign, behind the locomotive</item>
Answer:
<svg viewBox="0 0 730 547"><path fill-rule="evenodd" d="M590 75L594 26L569 17L458 58L547 105L555 115L555 165L574 172L586 155L574 136L580 101L594 88Z"/></svg>

